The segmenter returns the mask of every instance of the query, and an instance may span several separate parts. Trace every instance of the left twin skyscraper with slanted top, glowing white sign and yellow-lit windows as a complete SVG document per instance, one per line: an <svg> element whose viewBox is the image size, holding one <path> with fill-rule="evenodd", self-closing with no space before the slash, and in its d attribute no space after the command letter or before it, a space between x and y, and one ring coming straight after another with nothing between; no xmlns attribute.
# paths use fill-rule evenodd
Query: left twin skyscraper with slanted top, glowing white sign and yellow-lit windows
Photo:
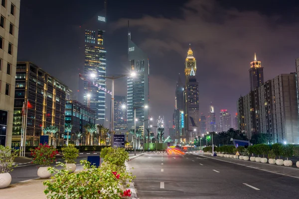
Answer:
<svg viewBox="0 0 299 199"><path fill-rule="evenodd" d="M106 93L92 83L106 89L106 50L105 50L105 25L106 25L106 0L105 8L100 14L91 18L85 30L85 61L84 76L84 104L96 110L96 123L104 123ZM92 83L91 83L92 82Z"/></svg>

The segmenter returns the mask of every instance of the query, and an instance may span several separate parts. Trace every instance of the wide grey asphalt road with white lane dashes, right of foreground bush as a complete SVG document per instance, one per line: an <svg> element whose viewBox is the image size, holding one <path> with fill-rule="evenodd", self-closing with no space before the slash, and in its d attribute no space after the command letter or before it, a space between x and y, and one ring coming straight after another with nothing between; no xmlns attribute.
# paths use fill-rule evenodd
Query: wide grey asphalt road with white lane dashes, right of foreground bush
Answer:
<svg viewBox="0 0 299 199"><path fill-rule="evenodd" d="M290 199L299 179L193 154L146 154L129 162L140 199Z"/></svg>

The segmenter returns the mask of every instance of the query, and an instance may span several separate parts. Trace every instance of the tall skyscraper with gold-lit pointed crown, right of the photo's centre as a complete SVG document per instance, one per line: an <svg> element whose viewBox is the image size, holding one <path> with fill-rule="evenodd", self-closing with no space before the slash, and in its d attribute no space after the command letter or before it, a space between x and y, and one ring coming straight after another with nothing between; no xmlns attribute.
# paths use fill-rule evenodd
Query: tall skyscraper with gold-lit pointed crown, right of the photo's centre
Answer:
<svg viewBox="0 0 299 199"><path fill-rule="evenodd" d="M199 100L198 100L198 82L196 81L196 60L193 51L189 47L185 61L185 118L187 131L193 131L199 123ZM188 137L188 136L186 136Z"/></svg>

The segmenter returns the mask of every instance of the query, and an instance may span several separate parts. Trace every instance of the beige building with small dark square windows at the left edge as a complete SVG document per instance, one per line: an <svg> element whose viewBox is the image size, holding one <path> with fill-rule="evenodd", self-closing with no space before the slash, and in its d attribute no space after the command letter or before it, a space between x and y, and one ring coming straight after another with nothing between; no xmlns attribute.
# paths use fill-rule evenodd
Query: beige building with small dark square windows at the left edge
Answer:
<svg viewBox="0 0 299 199"><path fill-rule="evenodd" d="M10 146L20 0L1 0L0 15L0 145Z"/></svg>

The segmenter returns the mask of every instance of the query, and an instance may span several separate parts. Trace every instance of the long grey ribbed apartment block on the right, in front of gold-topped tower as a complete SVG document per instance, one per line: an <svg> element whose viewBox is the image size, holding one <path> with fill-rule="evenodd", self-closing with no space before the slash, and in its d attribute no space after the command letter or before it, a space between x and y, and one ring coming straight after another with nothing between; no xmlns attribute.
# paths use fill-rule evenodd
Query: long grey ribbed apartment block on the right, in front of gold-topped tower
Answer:
<svg viewBox="0 0 299 199"><path fill-rule="evenodd" d="M238 100L238 114L244 116L238 125L248 138L266 133L273 143L299 143L296 75L281 74Z"/></svg>

